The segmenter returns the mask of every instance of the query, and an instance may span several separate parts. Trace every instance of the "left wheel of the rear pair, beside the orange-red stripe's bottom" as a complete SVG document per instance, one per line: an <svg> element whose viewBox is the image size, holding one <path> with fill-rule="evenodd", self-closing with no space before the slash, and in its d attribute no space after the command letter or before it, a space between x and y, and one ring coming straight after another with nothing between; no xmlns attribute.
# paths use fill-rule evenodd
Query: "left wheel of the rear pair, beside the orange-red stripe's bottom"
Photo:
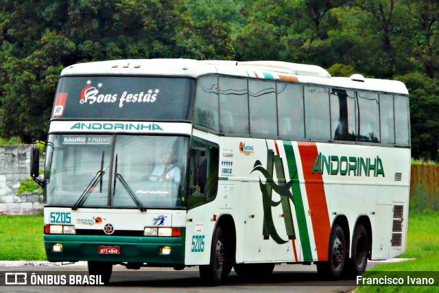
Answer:
<svg viewBox="0 0 439 293"><path fill-rule="evenodd" d="M317 262L317 272L324 279L337 280L342 276L346 261L346 240L342 226L335 224L329 237L328 260Z"/></svg>

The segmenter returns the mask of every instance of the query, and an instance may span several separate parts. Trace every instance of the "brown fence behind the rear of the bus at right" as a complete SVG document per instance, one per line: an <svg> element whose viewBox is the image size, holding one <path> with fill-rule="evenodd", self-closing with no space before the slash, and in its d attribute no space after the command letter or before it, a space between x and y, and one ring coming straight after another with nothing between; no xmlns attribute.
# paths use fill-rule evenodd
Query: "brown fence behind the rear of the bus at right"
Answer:
<svg viewBox="0 0 439 293"><path fill-rule="evenodd" d="M410 210L439 211L439 165L412 165Z"/></svg>

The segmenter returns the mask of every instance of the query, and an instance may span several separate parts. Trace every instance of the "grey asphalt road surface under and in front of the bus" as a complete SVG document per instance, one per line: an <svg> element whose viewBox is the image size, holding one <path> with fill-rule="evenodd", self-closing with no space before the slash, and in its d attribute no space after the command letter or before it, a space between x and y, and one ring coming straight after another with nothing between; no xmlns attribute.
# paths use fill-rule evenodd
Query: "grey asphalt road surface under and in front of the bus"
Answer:
<svg viewBox="0 0 439 293"><path fill-rule="evenodd" d="M36 274L86 275L85 263L67 266L2 266L1 283L5 273L26 272L29 280ZM377 265L370 262L368 268ZM35 280L35 279L34 279ZM82 280L83 281L83 280ZM316 266L282 264L274 268L272 275L265 278L238 276L230 272L229 277L217 287L204 287L200 281L198 268L185 268L175 271L169 268L141 268L127 270L123 266L114 266L108 285L67 285L35 286L9 285L0 287L0 292L351 292L356 287L355 280L323 281L319 279Z"/></svg>

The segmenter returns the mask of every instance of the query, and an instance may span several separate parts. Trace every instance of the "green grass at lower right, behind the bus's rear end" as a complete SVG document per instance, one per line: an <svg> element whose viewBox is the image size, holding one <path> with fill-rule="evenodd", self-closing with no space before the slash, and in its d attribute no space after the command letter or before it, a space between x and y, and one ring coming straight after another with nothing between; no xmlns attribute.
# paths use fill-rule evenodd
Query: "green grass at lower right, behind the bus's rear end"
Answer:
<svg viewBox="0 0 439 293"><path fill-rule="evenodd" d="M399 263L385 263L368 270L364 277L382 277L389 272L403 272L401 277L407 272L414 272L416 277L430 277L423 272L435 272L435 283L438 285L439 279L439 213L410 213L409 227L407 233L406 251L400 257L414 258L410 261ZM416 271L421 273L416 274ZM379 274L379 272L383 272ZM397 273L395 273L397 274ZM424 276L425 274L425 276ZM437 287L428 286L360 286L356 292L432 292L439 291Z"/></svg>

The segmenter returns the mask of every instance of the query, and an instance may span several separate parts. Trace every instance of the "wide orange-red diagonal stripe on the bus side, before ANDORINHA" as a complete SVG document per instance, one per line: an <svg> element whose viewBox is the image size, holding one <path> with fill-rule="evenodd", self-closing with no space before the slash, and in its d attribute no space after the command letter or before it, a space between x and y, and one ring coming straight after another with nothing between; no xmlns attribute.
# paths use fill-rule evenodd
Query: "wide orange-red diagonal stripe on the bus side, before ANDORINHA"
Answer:
<svg viewBox="0 0 439 293"><path fill-rule="evenodd" d="M316 143L298 142L300 159L302 160L303 177L305 178L305 189L309 209L311 210L311 223L313 225L314 239L316 241L318 260L328 259L329 234L331 224L327 199L324 194L322 174L312 174L314 163L318 156Z"/></svg>

